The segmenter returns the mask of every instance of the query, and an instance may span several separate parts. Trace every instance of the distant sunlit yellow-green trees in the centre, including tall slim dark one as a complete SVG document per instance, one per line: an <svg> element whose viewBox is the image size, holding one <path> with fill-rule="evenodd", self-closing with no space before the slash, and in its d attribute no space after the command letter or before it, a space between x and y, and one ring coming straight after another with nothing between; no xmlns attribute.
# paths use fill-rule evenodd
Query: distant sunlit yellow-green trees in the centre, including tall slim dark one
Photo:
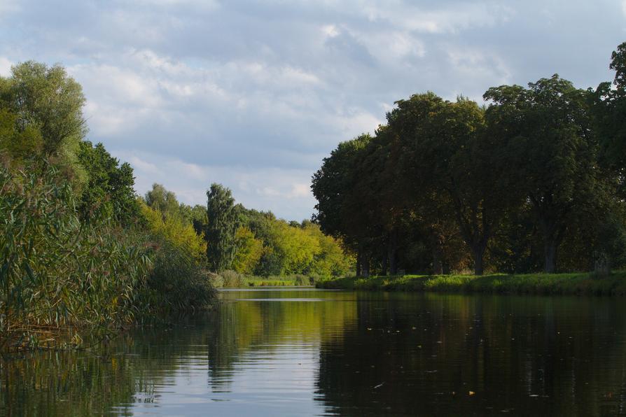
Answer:
<svg viewBox="0 0 626 417"><path fill-rule="evenodd" d="M232 192L218 183L207 190L207 206L179 203L160 184L146 192L145 204L163 218L191 225L204 240L207 268L253 276L306 275L328 278L347 274L352 258L319 225L278 219L271 211L235 204Z"/></svg>

